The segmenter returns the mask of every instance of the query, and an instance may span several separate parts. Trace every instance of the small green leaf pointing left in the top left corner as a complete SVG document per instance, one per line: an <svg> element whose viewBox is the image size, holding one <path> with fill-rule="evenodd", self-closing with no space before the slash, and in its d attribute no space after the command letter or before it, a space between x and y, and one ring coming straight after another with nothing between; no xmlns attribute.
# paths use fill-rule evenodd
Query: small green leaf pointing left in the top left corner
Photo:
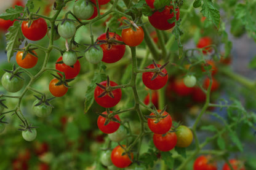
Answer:
<svg viewBox="0 0 256 170"><path fill-rule="evenodd" d="M23 7L22 6L15 6L14 8L9 8L6 10L5 13L2 13L0 15L0 18L4 19L4 20L15 20L15 18L20 17L20 14L23 12Z"/></svg>

